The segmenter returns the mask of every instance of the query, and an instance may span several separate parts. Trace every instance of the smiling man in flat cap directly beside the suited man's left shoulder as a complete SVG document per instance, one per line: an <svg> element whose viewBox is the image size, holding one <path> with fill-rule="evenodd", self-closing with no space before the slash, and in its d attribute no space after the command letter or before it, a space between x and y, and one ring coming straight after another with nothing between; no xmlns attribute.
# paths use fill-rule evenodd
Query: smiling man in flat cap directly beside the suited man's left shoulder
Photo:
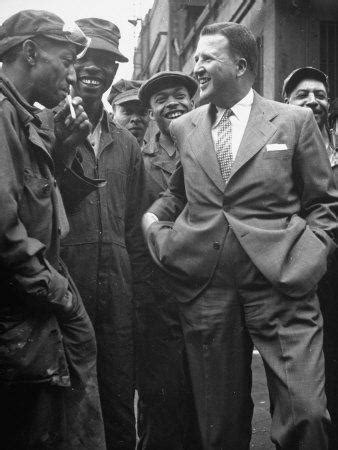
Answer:
<svg viewBox="0 0 338 450"><path fill-rule="evenodd" d="M179 161L172 121L194 106L196 81L183 72L159 72L142 84L139 98L158 132L142 149L148 206L165 191ZM149 259L150 256L149 256ZM136 293L138 449L199 449L197 419L186 373L183 336L171 282L152 263L151 282ZM146 293L146 295L145 295Z"/></svg>

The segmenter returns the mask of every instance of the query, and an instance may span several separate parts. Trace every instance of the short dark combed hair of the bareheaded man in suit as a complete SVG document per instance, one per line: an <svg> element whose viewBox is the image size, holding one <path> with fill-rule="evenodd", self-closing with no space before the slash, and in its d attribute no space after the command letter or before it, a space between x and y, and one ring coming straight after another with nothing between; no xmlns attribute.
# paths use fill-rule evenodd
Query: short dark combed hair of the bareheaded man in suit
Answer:
<svg viewBox="0 0 338 450"><path fill-rule="evenodd" d="M244 25L236 22L219 22L205 25L201 36L220 34L229 41L233 56L244 58L254 75L257 73L258 48L255 36Z"/></svg>

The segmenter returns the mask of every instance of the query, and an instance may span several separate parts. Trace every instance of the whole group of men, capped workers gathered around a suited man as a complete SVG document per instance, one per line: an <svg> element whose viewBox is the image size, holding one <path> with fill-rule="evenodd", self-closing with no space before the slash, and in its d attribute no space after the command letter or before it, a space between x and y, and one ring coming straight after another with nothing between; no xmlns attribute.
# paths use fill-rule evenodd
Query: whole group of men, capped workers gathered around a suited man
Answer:
<svg viewBox="0 0 338 450"><path fill-rule="evenodd" d="M261 97L225 22L193 77L112 84L119 39L46 11L0 27L1 448L247 450L254 346L276 448L338 448L327 76Z"/></svg>

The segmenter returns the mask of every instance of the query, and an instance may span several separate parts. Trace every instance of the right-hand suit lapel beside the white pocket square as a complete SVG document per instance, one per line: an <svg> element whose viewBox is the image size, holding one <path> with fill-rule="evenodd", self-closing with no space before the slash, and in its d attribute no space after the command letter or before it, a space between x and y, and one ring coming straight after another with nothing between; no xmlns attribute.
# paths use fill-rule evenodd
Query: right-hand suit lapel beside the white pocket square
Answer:
<svg viewBox="0 0 338 450"><path fill-rule="evenodd" d="M230 178L261 150L276 132L276 127L271 119L277 114L278 112L270 103L255 93L248 124L232 166Z"/></svg>

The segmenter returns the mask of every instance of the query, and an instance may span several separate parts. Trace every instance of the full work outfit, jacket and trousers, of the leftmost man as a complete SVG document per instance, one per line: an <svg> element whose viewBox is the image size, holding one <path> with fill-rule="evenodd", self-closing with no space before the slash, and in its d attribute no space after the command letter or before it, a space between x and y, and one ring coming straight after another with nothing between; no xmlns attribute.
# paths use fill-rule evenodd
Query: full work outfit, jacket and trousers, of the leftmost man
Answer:
<svg viewBox="0 0 338 450"><path fill-rule="evenodd" d="M58 256L53 139L0 77L0 446L104 450L94 331Z"/></svg>

